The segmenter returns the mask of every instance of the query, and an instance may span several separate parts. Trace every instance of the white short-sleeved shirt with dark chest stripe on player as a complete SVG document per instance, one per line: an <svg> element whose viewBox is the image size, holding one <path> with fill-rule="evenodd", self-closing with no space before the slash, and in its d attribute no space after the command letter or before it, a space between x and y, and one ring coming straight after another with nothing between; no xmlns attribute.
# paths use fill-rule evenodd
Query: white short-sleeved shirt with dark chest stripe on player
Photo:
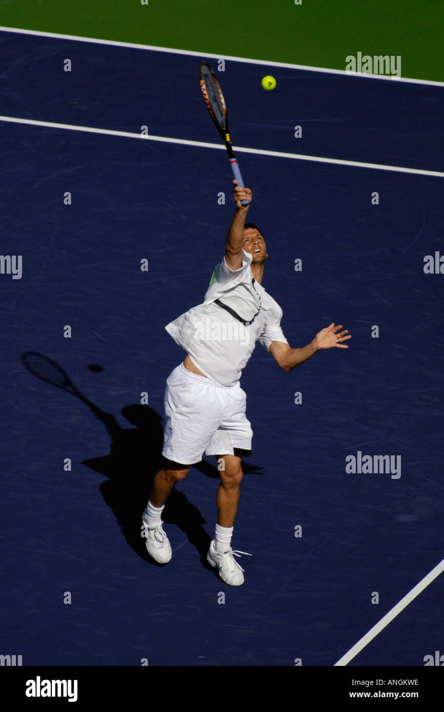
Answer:
<svg viewBox="0 0 444 712"><path fill-rule="evenodd" d="M288 343L280 325L282 309L254 280L251 262L244 250L237 270L223 258L204 302L165 326L197 368L224 388L237 384L257 340L267 350L272 341Z"/></svg>

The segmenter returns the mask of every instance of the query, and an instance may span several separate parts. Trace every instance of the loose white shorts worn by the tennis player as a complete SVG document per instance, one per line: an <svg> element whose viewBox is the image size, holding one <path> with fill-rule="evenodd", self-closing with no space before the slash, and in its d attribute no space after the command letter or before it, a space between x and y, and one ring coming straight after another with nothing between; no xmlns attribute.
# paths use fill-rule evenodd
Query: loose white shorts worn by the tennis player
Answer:
<svg viewBox="0 0 444 712"><path fill-rule="evenodd" d="M222 388L181 363L167 378L162 455L183 465L200 462L204 452L249 455L253 431L246 406L239 382Z"/></svg>

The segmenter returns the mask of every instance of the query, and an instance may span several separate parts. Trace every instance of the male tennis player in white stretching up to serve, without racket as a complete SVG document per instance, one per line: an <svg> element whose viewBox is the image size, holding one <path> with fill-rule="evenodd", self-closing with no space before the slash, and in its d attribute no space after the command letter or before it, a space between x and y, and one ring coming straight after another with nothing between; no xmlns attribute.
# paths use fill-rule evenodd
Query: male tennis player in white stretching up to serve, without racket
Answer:
<svg viewBox="0 0 444 712"><path fill-rule="evenodd" d="M202 304L165 328L186 352L185 360L167 378L165 388L165 463L153 482L143 512L141 535L150 555L167 563L171 546L162 528L162 509L175 484L185 478L202 455L214 455L220 471L217 524L207 561L222 581L244 582L244 569L231 540L239 504L242 456L251 454L252 428L245 415L246 395L239 384L242 369L259 340L284 371L331 347L348 348L351 338L342 325L331 323L304 347L292 349L281 329L282 309L262 287L267 246L252 223L245 223L252 191L234 184L236 210L224 258L215 267ZM242 200L248 200L242 206Z"/></svg>

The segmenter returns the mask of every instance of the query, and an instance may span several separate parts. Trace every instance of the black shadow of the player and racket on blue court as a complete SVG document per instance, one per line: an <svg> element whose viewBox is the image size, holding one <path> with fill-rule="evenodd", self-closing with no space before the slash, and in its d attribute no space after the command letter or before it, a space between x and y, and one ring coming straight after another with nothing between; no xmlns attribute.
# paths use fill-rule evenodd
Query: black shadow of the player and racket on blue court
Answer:
<svg viewBox="0 0 444 712"><path fill-rule="evenodd" d="M122 428L112 414L104 412L84 397L66 371L53 360L29 351L21 355L21 362L39 379L76 396L104 424L111 438L110 453L84 460L83 464L108 478L100 485L100 492L113 510L128 545L143 560L163 566L150 557L145 539L140 536L141 516L150 496L153 479L163 461L162 417L148 406L127 405L123 407L122 415L135 428ZM215 470L217 472L217 468ZM202 562L205 561L211 540L202 528L206 522L200 511L180 490L174 489L170 494L162 520L177 525L197 548Z"/></svg>

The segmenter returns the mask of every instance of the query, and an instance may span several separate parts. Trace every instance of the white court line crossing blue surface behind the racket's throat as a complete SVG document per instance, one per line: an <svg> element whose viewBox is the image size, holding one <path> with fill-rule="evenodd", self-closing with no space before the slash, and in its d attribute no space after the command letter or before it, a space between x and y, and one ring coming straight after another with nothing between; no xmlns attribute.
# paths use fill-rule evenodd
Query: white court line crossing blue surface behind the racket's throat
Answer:
<svg viewBox="0 0 444 712"><path fill-rule="evenodd" d="M222 143L207 143L205 141L191 141L185 138L170 138L167 136L151 136L132 133L130 131L115 131L112 129L98 129L91 126L76 126L72 124L58 124L52 121L36 121L33 119L20 119L13 116L0 116L0 121L9 121L15 124L27 124L31 126L43 126L52 129L68 129L71 131L86 131L88 133L105 134L109 136L121 136L125 138L138 138L144 141L160 141L164 143L175 143L184 146L198 146L201 148L217 148L222 151L225 147ZM319 163L333 163L341 166L352 166L355 168L374 168L382 171L396 171L398 173L412 173L435 178L444 178L444 172L426 171L420 168L405 168L403 166L386 166L378 163L363 163L361 161L346 161L340 158L325 158L323 156L306 156L299 153L284 153L282 151L266 151L262 148L246 148L242 146L234 147L237 153L253 153L259 156L272 156L274 158L292 158L300 161L314 161Z"/></svg>

